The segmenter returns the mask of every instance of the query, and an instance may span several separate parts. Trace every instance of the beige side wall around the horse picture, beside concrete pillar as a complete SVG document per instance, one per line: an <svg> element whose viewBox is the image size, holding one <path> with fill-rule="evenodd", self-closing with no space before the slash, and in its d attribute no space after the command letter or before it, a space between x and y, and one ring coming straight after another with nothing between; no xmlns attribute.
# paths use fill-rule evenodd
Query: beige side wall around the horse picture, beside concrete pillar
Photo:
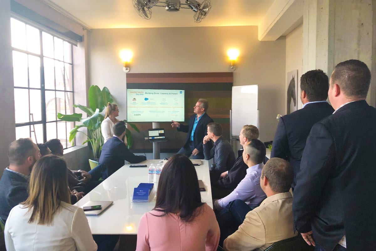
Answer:
<svg viewBox="0 0 376 251"><path fill-rule="evenodd" d="M296 27L292 32L286 36L286 81L285 81L285 103L284 108L281 109L280 114L286 114L287 103L287 73L292 70L298 70L298 96L297 96L297 108L302 108L303 104L300 101L300 77L302 76L302 64L303 64L303 24Z"/></svg>

